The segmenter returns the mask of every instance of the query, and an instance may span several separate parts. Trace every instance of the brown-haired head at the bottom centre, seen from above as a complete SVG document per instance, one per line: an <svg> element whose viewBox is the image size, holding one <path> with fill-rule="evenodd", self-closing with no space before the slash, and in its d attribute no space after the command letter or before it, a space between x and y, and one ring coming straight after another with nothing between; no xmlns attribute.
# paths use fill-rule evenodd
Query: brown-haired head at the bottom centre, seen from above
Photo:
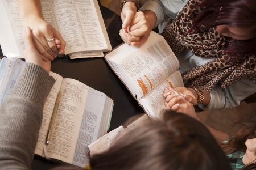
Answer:
<svg viewBox="0 0 256 170"><path fill-rule="evenodd" d="M230 169L224 152L199 121L166 112L143 122L104 153L93 155L97 169Z"/></svg>

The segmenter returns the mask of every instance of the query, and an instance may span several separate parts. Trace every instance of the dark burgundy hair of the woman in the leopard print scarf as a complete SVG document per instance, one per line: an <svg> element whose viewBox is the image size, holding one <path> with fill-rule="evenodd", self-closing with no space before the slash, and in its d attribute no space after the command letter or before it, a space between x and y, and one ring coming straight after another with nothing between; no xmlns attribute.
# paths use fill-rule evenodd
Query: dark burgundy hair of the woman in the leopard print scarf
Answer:
<svg viewBox="0 0 256 170"><path fill-rule="evenodd" d="M201 12L188 32L205 31L218 25L250 28L251 39L234 41L224 48L230 62L245 55L256 54L256 1L255 0L203 0L195 7ZM203 27L201 27L203 25Z"/></svg>

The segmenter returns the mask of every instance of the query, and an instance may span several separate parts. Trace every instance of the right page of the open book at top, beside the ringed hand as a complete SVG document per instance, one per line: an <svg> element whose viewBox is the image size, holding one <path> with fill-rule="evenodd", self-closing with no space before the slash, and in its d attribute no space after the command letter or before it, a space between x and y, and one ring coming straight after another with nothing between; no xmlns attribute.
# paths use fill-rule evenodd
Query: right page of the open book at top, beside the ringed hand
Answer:
<svg viewBox="0 0 256 170"><path fill-rule="evenodd" d="M67 42L65 52L109 51L108 34L97 0L51 1L59 31ZM104 27L101 27L101 24ZM103 29L102 29L103 28ZM105 29L105 30L104 30ZM107 40L107 41L106 41ZM106 50L108 49L108 50Z"/></svg>

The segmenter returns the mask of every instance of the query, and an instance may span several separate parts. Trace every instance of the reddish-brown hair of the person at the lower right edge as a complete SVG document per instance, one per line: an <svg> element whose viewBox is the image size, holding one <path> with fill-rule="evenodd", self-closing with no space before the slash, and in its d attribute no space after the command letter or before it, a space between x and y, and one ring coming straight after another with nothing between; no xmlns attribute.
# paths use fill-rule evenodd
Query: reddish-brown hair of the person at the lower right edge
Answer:
<svg viewBox="0 0 256 170"><path fill-rule="evenodd" d="M225 154L230 154L233 151L245 152L247 148L245 142L247 141L247 139L256 138L256 124L254 122L237 122L232 127L237 124L241 124L242 128L240 128L240 130L238 130L237 133L232 138L230 138L228 142L221 144L221 148L225 152ZM256 169L256 163L248 164L242 169Z"/></svg>

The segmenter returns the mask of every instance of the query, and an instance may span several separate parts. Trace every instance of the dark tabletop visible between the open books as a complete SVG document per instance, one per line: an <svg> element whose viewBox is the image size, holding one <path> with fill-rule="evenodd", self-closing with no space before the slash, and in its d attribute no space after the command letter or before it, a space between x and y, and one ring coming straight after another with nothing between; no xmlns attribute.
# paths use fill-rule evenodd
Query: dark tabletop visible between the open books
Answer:
<svg viewBox="0 0 256 170"><path fill-rule="evenodd" d="M113 12L101 6L101 12L104 19L112 17ZM121 28L121 19L118 15L108 25L107 31L112 48L119 45L122 39L119 37ZM80 58L80 59L55 59L52 62L51 71L60 74L63 78L72 78L98 90L104 92L114 100L112 120L110 130L121 126L128 118L136 114L143 113L143 109L137 101L131 96L130 92L114 74L103 57L98 58ZM46 162L45 160L34 159L32 169L50 169L56 167L56 164Z"/></svg>

